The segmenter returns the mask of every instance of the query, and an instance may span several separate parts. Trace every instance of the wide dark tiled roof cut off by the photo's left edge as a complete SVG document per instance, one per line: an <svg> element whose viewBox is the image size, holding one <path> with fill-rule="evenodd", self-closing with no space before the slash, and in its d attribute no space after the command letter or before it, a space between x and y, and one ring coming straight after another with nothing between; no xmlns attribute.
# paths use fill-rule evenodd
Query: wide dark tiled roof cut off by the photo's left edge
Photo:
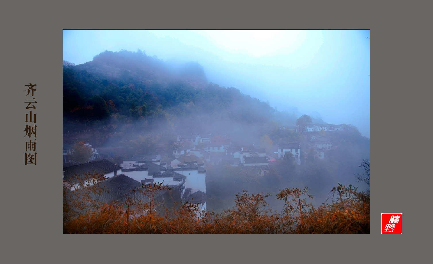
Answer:
<svg viewBox="0 0 433 264"><path fill-rule="evenodd" d="M90 161L84 164L78 164L63 168L65 180L70 179L75 174L83 175L84 173L94 173L95 171L100 174L112 173L113 171L122 169L108 160Z"/></svg>

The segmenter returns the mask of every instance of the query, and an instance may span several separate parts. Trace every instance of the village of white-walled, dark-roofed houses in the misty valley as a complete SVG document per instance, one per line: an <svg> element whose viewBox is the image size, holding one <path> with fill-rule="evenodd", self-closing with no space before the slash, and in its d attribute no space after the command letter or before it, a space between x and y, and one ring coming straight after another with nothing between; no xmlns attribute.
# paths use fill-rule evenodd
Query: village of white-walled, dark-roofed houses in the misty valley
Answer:
<svg viewBox="0 0 433 264"><path fill-rule="evenodd" d="M281 129L297 130L297 127ZM313 124L305 127L304 132L344 130L343 125ZM63 185L70 191L81 188L74 183L74 176L97 172L105 177L103 188L109 192L95 195L101 202L125 202L128 198L137 198L139 194L131 192L147 184L163 184L170 191L160 190L154 199L171 202L191 202L197 204L201 212L206 212L206 167L230 165L266 176L269 166L283 159L288 153L293 155L294 163L301 165L300 143L278 143L272 149L233 144L229 137L211 134L178 135L171 157L162 160L162 155L137 155L125 158L120 164L107 159L122 155L122 147L92 147L90 161L71 165L68 156L72 145L63 146ZM313 135L305 146L313 150L317 159L323 159L326 150L333 149L332 142L320 135ZM88 183L87 183L88 184ZM91 183L93 184L93 183ZM142 196L139 198L143 199Z"/></svg>

